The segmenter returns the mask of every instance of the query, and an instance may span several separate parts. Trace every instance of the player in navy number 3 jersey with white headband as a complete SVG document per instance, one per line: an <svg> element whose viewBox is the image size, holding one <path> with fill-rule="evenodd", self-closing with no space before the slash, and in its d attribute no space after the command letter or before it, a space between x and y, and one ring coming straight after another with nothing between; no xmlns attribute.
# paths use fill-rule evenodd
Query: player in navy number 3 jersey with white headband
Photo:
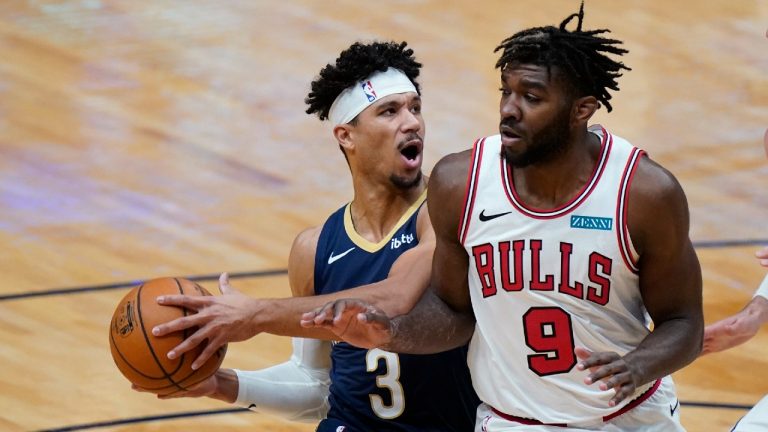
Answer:
<svg viewBox="0 0 768 432"><path fill-rule="evenodd" d="M396 287L391 291L376 290L374 285L354 290L351 295L370 294L369 299L375 302L386 298L378 303L393 311L405 307L405 312L427 285L434 232L425 210L427 188L421 173L425 129L416 84L421 64L412 54L404 42L355 43L312 83L307 113L329 119L333 125L334 137L352 173L354 199L322 227L302 232L294 242L289 280L297 296L332 294L331 298L340 298L344 294L339 291L373 284L389 275ZM420 282L398 287L405 279ZM160 301L201 310L201 315L208 314L206 319L211 319L215 313L203 309L210 309L215 302L236 306L234 301L245 300L231 290L226 275L221 284L227 295L211 302L193 303L197 300L184 296ZM318 297L312 307L327 300ZM249 304L254 302L258 300ZM288 309L269 313L292 316ZM282 318L274 321L272 327L262 325L258 331L290 333L276 329L275 323ZM177 320L162 326L158 334L194 322ZM298 326L297 317L292 322L308 332ZM253 327L245 333L254 331ZM236 339L233 333L236 331L224 337ZM332 336L314 331L319 336L324 333ZM311 419L324 414L317 397L322 395L317 390L325 380L322 359L328 358L328 352L317 344L294 339L294 354L288 364L256 372L222 369L201 386L174 397L210 396L258 408L266 404L285 417ZM175 354L180 352L177 348ZM429 355L398 355L338 342L333 343L330 357L330 407L318 431L466 431L474 424L479 400L469 378L466 347ZM290 382L287 388L286 382ZM302 392L302 386L314 396ZM279 411L281 404L290 405L290 413L285 408Z"/></svg>

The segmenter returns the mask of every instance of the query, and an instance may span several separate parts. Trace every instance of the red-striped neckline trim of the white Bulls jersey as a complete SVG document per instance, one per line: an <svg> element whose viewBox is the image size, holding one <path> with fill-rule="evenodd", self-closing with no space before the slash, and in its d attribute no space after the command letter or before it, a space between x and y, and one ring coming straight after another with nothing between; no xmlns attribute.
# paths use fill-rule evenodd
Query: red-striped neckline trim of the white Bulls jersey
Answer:
<svg viewBox="0 0 768 432"><path fill-rule="evenodd" d="M602 126L601 126L602 128ZM525 216L534 219L555 219L561 216L565 216L568 213L576 210L581 203L589 198L592 191L595 190L597 184L600 182L600 178L605 172L605 167L608 165L608 158L611 155L611 147L613 146L613 136L611 136L605 128L603 130L603 139L600 143L600 159L598 159L595 168L592 170L590 180L584 184L578 194L576 194L570 201L561 205L560 207L552 210L537 209L535 207L529 207L523 203L515 190L514 177L512 176L512 166L506 163L506 160L501 158L501 178L504 183L504 191L507 194L509 202L520 213Z"/></svg>

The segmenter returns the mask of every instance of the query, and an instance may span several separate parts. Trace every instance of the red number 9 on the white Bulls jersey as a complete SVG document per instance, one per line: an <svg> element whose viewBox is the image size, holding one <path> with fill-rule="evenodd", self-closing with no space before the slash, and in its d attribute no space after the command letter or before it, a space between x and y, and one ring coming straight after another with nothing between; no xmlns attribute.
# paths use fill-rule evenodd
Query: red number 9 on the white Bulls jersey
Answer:
<svg viewBox="0 0 768 432"><path fill-rule="evenodd" d="M539 376L570 371L576 365L571 316L560 308L530 308L523 315L525 343L541 354L528 356L528 368Z"/></svg>

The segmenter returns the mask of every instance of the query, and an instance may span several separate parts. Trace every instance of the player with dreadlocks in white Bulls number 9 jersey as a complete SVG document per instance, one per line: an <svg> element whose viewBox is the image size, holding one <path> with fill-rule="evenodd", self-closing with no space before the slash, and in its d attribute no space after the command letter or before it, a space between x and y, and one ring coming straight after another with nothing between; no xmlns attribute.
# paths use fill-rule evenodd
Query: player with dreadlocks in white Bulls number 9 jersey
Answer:
<svg viewBox="0 0 768 432"><path fill-rule="evenodd" d="M471 338L476 431L682 430L669 374L703 330L687 202L642 150L587 127L628 68L582 20L583 5L497 48L500 134L433 170L432 289L416 308L390 319L348 299L303 317L394 352Z"/></svg>

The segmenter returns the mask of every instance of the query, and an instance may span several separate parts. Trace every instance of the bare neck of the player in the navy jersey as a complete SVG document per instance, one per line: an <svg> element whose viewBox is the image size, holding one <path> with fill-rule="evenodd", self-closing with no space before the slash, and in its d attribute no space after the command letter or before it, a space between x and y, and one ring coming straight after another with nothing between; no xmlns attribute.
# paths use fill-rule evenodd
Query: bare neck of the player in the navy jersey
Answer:
<svg viewBox="0 0 768 432"><path fill-rule="evenodd" d="M366 240L378 243L394 228L427 187L426 178L412 188L376 184L356 179L355 198L350 208L355 231Z"/></svg>

